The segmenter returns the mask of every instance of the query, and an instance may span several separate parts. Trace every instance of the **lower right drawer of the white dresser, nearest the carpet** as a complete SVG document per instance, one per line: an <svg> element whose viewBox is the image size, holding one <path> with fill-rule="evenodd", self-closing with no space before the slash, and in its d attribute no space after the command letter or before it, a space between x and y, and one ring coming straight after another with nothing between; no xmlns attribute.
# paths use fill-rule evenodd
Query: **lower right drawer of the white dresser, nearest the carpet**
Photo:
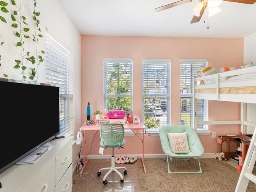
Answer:
<svg viewBox="0 0 256 192"><path fill-rule="evenodd" d="M64 176L60 179L57 186L55 187L55 192L71 192L72 191L72 164L69 166L68 170Z"/></svg>

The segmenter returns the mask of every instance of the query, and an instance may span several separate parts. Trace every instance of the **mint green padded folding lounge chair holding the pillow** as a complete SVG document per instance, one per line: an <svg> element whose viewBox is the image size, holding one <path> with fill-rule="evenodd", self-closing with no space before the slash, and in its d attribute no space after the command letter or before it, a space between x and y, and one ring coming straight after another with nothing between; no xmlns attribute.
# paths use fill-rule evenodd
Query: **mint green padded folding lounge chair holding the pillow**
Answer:
<svg viewBox="0 0 256 192"><path fill-rule="evenodd" d="M170 143L167 133L184 133L187 134L187 141L190 152L188 153L174 153L170 149ZM199 157L204 154L204 147L196 131L188 125L163 125L159 128L159 136L161 140L161 145L166 157L164 158L167 161L168 173L202 173L200 166ZM194 172L172 172L170 170L169 161L189 161L191 158L198 159L199 170Z"/></svg>

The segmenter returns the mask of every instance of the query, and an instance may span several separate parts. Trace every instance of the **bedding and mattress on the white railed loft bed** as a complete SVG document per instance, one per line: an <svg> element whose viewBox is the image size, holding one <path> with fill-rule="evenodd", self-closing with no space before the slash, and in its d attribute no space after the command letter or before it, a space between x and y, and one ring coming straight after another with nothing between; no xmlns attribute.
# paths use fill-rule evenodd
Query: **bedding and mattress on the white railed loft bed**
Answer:
<svg viewBox="0 0 256 192"><path fill-rule="evenodd" d="M204 85L204 86L202 86L202 88L199 88L199 86L197 86L198 88L195 91L196 93L216 93L217 92L216 87L219 87L219 93L221 94L256 94L256 83L254 83L253 85L251 83L253 81L256 82L256 72L255 72L256 65L252 64L250 66L255 66L251 68L254 70L247 70L250 72L245 74L244 73L238 74L238 75L230 75L234 71L234 68L228 68L227 70L223 70L226 68L217 68L218 70L215 70L216 68L202 67L201 71L198 71L198 76L204 76L206 78L209 75L210 76L208 79L204 78L204 80L200 80L200 85ZM210 68L210 70L208 70L208 68ZM212 74L220 74L220 73L217 73L217 71L220 71L219 69L221 70L220 73L227 72L227 71L232 71L232 72L227 73L230 76L222 76L222 77L212 76ZM206 70L208 70L208 74L204 73L204 71ZM212 71L212 72L209 73L209 71ZM217 85L216 83L217 78L218 78L219 85ZM241 82L242 82L242 86L241 86ZM210 88L207 88L207 86L209 86Z"/></svg>

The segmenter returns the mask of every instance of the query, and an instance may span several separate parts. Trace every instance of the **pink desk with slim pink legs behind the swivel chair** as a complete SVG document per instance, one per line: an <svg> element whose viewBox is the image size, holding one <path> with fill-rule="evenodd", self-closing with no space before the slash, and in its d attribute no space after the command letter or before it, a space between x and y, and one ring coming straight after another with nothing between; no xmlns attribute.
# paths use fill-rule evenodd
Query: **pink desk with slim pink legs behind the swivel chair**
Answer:
<svg viewBox="0 0 256 192"><path fill-rule="evenodd" d="M140 124L133 124L133 123L129 123L129 124L124 124L124 129L125 130L132 130L132 132L134 132L134 134L142 141L142 165L143 165L143 168L144 168L144 172L146 173L146 167L145 167L145 163L144 163L144 130L146 129L144 124L143 123L140 123ZM92 131L94 130L94 132L100 130L100 125L95 125L95 124L92 124L90 126L86 126L86 125L83 125L81 128L80 128L81 131L84 131L84 139L85 139L85 133L86 131ZM135 130L141 130L142 131L142 136L140 136L139 134L137 134L135 132ZM93 135L93 134L92 134ZM91 136L92 136L91 135ZM85 141L83 141L85 143ZM84 145L85 146L85 145ZM84 161L84 166L82 167L82 170L81 170L81 174L82 172L84 171L86 165L88 164L89 162L89 159L86 159L86 152L85 152L85 149L82 150L83 151L83 155L84 155L84 158L85 158L85 161Z"/></svg>

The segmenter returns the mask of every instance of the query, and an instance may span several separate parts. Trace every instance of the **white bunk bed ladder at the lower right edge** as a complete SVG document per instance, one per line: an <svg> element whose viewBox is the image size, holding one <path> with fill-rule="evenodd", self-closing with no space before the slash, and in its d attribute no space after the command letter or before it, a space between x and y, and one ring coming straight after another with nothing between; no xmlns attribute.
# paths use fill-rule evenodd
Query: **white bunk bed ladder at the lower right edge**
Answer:
<svg viewBox="0 0 256 192"><path fill-rule="evenodd" d="M235 192L246 192L249 180L256 184L256 176L252 174L256 161L256 127L252 135L252 140L246 154L242 171L236 184Z"/></svg>

